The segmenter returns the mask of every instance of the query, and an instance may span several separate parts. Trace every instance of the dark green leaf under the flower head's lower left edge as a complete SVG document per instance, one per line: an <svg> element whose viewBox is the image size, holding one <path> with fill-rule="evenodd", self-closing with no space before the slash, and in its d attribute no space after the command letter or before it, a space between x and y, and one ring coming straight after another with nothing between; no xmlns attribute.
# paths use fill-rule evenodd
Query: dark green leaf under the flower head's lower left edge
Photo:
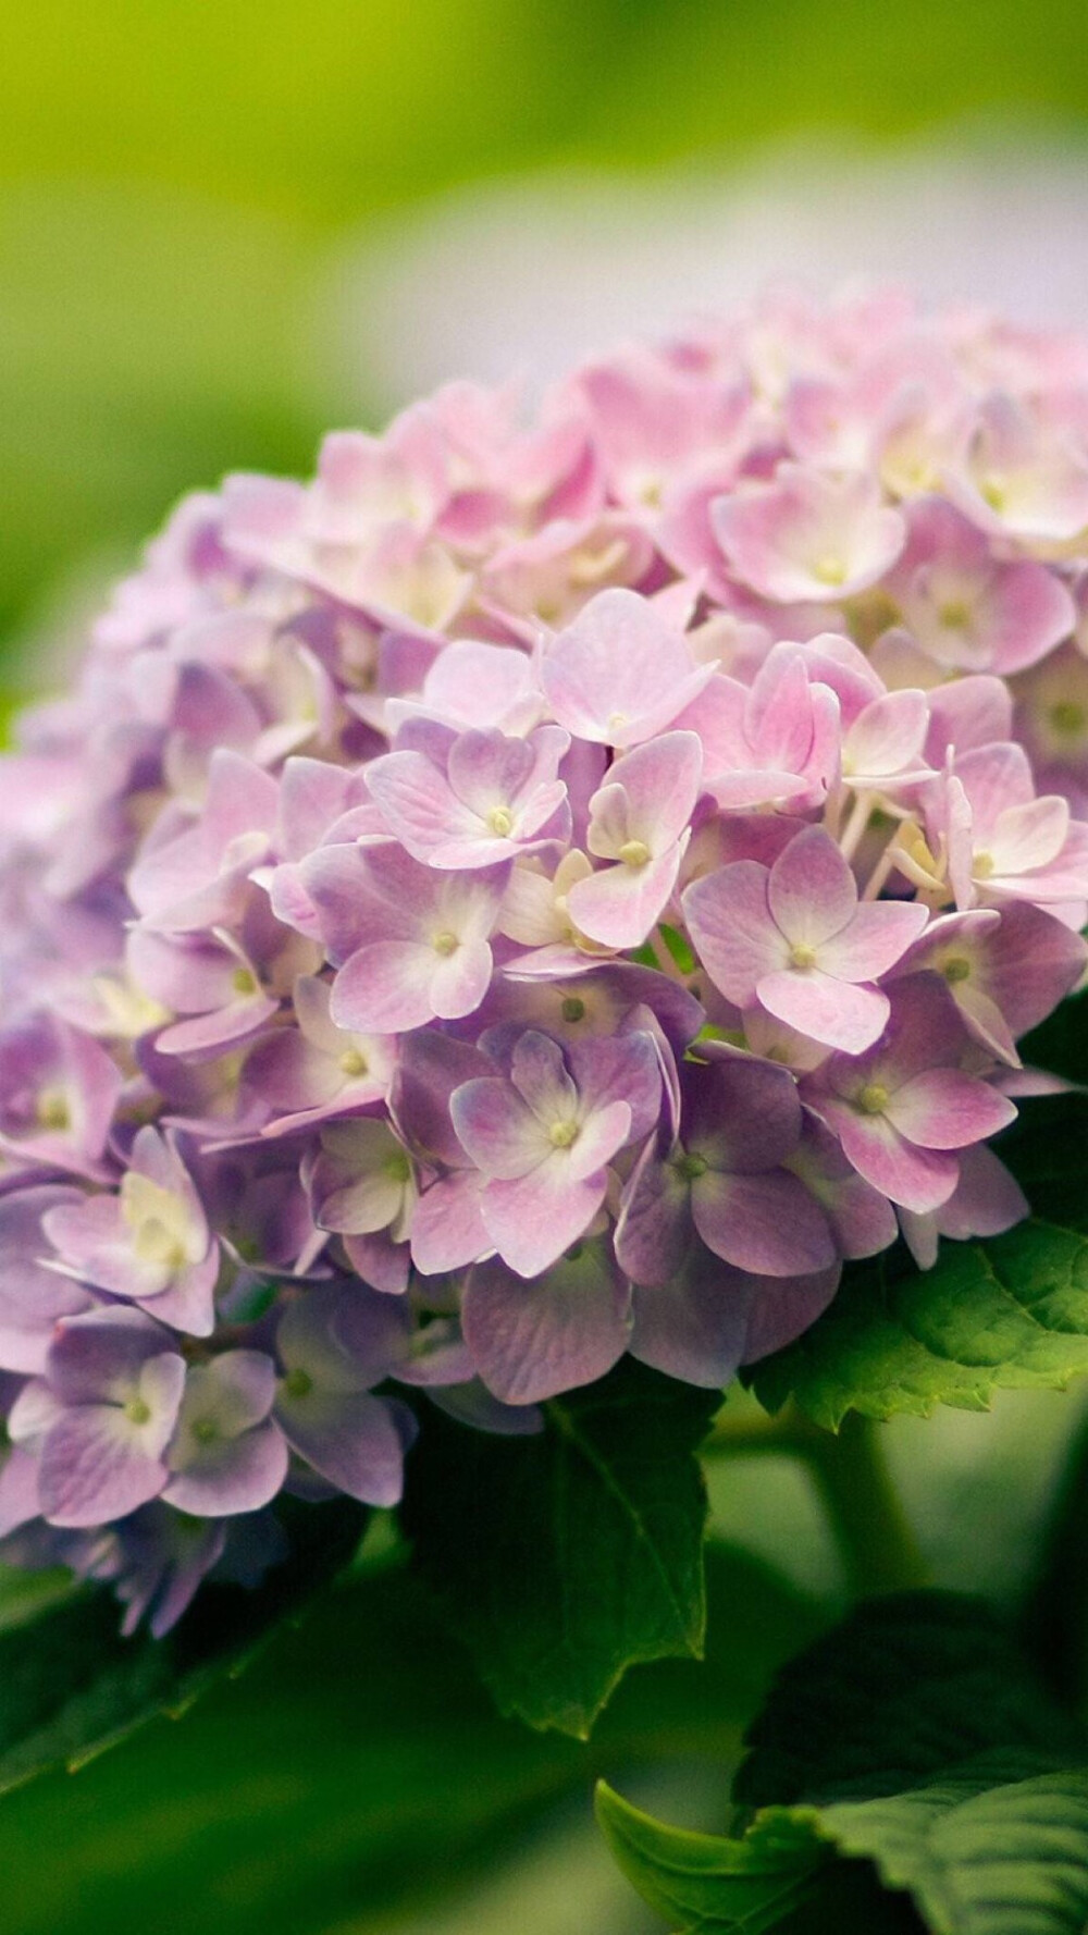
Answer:
<svg viewBox="0 0 1088 1935"><path fill-rule="evenodd" d="M0 1792L48 1767L79 1767L240 1672L271 1629L348 1563L364 1523L366 1511L350 1503L294 1513L290 1556L259 1589L201 1587L166 1639L122 1639L116 1600L103 1591L76 1593L0 1631Z"/></svg>

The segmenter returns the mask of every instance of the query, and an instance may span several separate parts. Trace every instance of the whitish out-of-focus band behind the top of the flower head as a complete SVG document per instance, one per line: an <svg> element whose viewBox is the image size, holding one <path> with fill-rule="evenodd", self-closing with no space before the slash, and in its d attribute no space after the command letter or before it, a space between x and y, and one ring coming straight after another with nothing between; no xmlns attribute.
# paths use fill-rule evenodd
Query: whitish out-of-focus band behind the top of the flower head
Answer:
<svg viewBox="0 0 1088 1935"><path fill-rule="evenodd" d="M321 296L333 393L540 383L776 281L1088 329L1088 149L1053 130L881 149L792 143L732 172L550 172L461 190L343 248Z"/></svg>

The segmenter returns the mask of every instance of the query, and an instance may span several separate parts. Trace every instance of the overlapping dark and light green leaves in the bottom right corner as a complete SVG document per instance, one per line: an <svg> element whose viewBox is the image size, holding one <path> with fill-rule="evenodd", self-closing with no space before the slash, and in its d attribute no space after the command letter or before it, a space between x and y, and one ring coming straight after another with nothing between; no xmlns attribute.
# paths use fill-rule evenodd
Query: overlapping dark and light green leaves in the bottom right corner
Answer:
<svg viewBox="0 0 1088 1935"><path fill-rule="evenodd" d="M863 1606L786 1670L749 1740L743 1834L685 1834L598 1794L616 1860L670 1927L1080 1935L1088 1747L976 1602Z"/></svg>

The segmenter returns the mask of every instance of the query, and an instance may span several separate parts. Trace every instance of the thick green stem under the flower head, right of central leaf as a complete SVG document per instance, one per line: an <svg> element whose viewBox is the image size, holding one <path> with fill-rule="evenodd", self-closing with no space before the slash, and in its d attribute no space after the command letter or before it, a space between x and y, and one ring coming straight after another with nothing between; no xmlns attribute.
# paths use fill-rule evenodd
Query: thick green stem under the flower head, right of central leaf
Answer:
<svg viewBox="0 0 1088 1935"><path fill-rule="evenodd" d="M726 1411L705 1451L803 1459L838 1542L850 1593L865 1598L925 1585L925 1562L894 1490L881 1430L856 1413L838 1432L825 1432L792 1407L774 1418L730 1418Z"/></svg>

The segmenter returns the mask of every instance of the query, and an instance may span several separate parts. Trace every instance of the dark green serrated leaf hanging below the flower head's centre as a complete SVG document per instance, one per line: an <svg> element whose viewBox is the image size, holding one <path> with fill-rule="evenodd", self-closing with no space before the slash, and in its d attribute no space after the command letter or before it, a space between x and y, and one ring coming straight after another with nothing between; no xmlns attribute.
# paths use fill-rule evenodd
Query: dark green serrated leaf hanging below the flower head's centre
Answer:
<svg viewBox="0 0 1088 1935"><path fill-rule="evenodd" d="M585 1738L635 1660L703 1651L718 1393L641 1364L544 1407L538 1438L428 1418L405 1525L499 1711Z"/></svg>

